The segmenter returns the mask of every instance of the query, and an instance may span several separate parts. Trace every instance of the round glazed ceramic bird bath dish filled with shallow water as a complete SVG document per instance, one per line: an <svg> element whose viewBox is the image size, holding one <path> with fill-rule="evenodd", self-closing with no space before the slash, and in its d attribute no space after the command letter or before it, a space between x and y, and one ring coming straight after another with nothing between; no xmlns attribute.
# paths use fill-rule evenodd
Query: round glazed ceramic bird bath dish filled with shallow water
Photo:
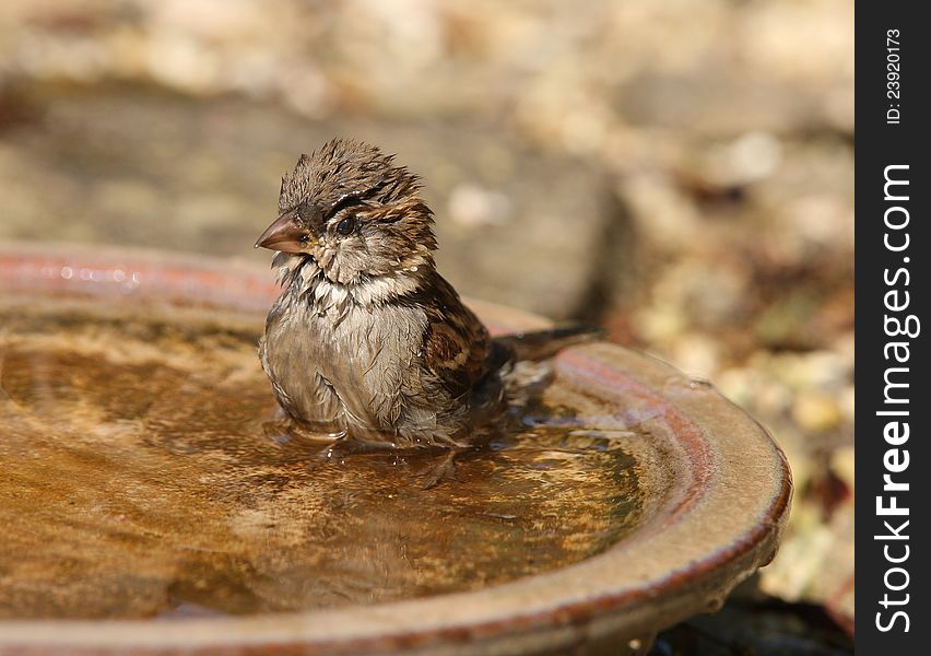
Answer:
<svg viewBox="0 0 931 656"><path fill-rule="evenodd" d="M245 263L0 247L0 654L643 652L775 553L778 447L611 344L436 488L431 456L316 458L255 353L275 294Z"/></svg>

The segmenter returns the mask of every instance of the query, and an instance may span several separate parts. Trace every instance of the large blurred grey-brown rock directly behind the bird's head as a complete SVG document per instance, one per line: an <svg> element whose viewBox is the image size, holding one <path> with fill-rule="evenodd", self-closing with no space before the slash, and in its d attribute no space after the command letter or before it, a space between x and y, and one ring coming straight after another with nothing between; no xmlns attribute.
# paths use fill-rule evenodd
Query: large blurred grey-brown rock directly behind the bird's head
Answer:
<svg viewBox="0 0 931 656"><path fill-rule="evenodd" d="M311 121L271 104L155 90L34 91L44 118L0 142L0 238L268 261L280 176L333 136L421 174L440 271L461 293L556 319L597 316L629 261L626 214L591 167L478 121Z"/></svg>

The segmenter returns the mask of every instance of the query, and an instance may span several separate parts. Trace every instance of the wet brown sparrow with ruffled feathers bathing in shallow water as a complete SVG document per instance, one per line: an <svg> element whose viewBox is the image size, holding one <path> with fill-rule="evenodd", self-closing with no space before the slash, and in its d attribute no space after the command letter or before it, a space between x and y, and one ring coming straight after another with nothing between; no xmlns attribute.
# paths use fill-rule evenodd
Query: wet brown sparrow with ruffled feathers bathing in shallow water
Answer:
<svg viewBox="0 0 931 656"><path fill-rule="evenodd" d="M387 447L464 447L507 406L515 363L585 339L567 330L492 339L437 272L417 176L377 148L334 139L282 178L282 293L262 367L299 426Z"/></svg>

